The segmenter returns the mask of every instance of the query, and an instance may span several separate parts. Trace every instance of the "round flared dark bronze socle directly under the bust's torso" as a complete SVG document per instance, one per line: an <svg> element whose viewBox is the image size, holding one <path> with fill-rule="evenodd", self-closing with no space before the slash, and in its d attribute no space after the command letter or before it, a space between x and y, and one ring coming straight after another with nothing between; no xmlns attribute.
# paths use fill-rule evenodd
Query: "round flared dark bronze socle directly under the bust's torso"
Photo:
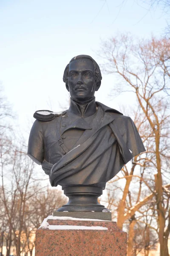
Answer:
<svg viewBox="0 0 170 256"><path fill-rule="evenodd" d="M57 212L102 212L108 211L104 205L98 203L97 198L102 195L102 188L96 186L62 186L69 201Z"/></svg>

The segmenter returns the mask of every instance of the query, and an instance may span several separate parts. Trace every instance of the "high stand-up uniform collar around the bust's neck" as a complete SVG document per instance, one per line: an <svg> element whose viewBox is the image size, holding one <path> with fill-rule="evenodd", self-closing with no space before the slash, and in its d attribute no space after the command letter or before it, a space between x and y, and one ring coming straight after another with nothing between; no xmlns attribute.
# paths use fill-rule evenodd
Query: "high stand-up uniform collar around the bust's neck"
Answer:
<svg viewBox="0 0 170 256"><path fill-rule="evenodd" d="M70 107L68 109L70 113L74 113L77 116L85 118L88 116L92 116L94 113L96 113L96 110L97 108L95 97L91 100L84 102L83 104L75 99L70 98Z"/></svg>

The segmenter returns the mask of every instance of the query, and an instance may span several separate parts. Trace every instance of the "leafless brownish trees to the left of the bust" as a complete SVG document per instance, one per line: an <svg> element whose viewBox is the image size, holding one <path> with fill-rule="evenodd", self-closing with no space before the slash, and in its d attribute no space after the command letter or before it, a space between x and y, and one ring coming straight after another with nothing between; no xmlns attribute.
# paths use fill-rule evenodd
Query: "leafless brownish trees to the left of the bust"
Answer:
<svg viewBox="0 0 170 256"><path fill-rule="evenodd" d="M35 245L35 230L43 219L67 201L61 191L42 186L25 142L14 135L14 114L0 96L0 252L27 255ZM11 252L11 253L10 253Z"/></svg>

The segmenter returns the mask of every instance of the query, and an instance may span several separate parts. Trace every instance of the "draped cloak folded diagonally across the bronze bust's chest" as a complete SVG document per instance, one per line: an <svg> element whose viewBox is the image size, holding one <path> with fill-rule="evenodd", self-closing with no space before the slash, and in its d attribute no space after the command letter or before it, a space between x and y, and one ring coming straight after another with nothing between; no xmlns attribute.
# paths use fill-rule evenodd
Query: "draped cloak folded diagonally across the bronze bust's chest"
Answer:
<svg viewBox="0 0 170 256"><path fill-rule="evenodd" d="M96 105L92 128L85 130L74 147L54 165L46 162L47 169L51 169L51 186L91 185L104 189L124 164L145 151L129 116L99 102Z"/></svg>

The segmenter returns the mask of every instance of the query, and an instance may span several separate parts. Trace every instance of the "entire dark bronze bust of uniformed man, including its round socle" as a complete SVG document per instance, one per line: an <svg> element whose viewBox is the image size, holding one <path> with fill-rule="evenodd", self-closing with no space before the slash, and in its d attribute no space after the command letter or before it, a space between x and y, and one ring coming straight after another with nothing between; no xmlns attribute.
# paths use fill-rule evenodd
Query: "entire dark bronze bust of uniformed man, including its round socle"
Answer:
<svg viewBox="0 0 170 256"><path fill-rule="evenodd" d="M36 111L28 156L61 185L68 204L58 211L102 212L97 198L134 156L145 151L132 119L95 101L102 76L88 55L71 59L63 76L70 107L62 113Z"/></svg>

